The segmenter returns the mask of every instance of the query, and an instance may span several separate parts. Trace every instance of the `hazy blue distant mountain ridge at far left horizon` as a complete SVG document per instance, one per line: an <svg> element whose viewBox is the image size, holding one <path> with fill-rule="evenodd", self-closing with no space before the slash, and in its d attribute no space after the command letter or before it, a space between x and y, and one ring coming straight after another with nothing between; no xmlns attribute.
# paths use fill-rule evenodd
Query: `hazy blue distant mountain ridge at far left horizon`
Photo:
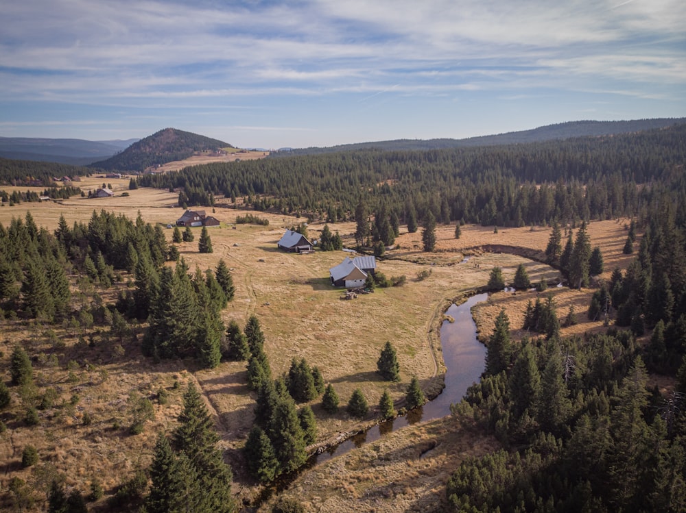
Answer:
<svg viewBox="0 0 686 513"><path fill-rule="evenodd" d="M84 139L48 139L0 137L0 157L38 162L86 165L110 158L137 139L91 141Z"/></svg>

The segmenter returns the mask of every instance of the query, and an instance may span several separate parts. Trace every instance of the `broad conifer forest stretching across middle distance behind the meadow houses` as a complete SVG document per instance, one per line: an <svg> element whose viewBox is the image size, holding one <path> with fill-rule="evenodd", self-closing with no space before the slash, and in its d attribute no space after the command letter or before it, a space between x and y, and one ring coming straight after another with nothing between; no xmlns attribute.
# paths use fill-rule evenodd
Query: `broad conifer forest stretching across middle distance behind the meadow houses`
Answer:
<svg viewBox="0 0 686 513"><path fill-rule="evenodd" d="M255 210L329 223L359 222L362 203L374 220L368 235L388 246L388 225L395 219L412 232L429 212L437 223L523 226L643 217L646 206L661 197L683 204L678 166L686 152L685 126L529 145L361 150L206 164L145 175L139 185L244 197ZM366 237L356 234L358 245Z"/></svg>

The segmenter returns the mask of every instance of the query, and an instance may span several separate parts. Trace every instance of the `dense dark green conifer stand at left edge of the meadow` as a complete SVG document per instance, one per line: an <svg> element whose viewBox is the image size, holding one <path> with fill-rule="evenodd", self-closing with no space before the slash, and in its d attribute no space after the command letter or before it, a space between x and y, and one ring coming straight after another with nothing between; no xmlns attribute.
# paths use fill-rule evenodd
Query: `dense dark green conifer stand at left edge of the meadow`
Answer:
<svg viewBox="0 0 686 513"><path fill-rule="evenodd" d="M161 227L145 223L140 215L131 221L94 211L88 225L72 227L60 216L51 234L38 228L27 212L23 220L13 218L6 229L0 225L0 308L3 314L62 320L67 326L105 318L116 321L114 326L125 323L122 316L148 320L146 355L190 355L203 366L216 366L224 340L218 312L235 294L231 273L224 260L215 270L196 268L191 274L183 260L172 270L163 266L167 252ZM80 286L85 280L97 291L120 281L122 271L133 273L134 284L119 292L115 305L106 307L101 300L91 308L73 310L71 275L80 276Z"/></svg>

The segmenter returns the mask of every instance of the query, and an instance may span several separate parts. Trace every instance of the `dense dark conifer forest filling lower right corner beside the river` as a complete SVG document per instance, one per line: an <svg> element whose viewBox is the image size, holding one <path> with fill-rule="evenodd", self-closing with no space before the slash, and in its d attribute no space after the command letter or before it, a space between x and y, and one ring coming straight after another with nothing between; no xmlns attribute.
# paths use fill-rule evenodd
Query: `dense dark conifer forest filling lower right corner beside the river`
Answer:
<svg viewBox="0 0 686 513"><path fill-rule="evenodd" d="M452 407L503 448L456 468L451 511L683 510L683 358L663 397L648 386L651 349L631 331L515 346L508 324L501 312L481 382Z"/></svg>

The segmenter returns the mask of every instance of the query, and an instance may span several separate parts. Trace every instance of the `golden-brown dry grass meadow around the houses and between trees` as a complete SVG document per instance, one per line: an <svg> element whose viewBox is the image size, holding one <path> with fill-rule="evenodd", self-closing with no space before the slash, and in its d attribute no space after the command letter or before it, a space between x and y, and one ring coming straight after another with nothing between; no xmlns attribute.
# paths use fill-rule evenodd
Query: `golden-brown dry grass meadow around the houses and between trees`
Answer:
<svg viewBox="0 0 686 513"><path fill-rule="evenodd" d="M88 190L103 182L113 186L115 197L21 203L0 208L0 222L7 226L12 217L23 218L30 210L39 226L53 231L60 214L71 224L87 223L93 210L131 218L140 213L145 221L164 226L174 223L182 214L176 206L175 194L151 189L128 191L128 178L93 177L75 185ZM130 195L122 197L121 192ZM182 257L191 270L196 266L214 268L223 258L231 268L236 286L235 299L222 312L224 322L233 318L243 326L250 314L257 314L265 333L265 351L272 373L280 375L287 371L292 358L304 357L309 364L320 367L324 380L333 384L342 404L359 387L368 403L377 405L383 389L388 387L401 405L412 375L418 376L427 390L440 388L443 368L437 327L442 310L451 299L484 286L493 266L503 269L506 280L512 279L520 263L527 267L532 282L541 277L558 277L557 271L544 264L479 249L484 245L510 245L540 251L547 244L548 228L499 229L493 233L493 227L465 226L462 237L456 240L454 225L440 226L436 253L423 253L421 234L405 231L397 239L398 249L389 251L386 256L390 258L379 262L378 270L387 277L405 275L405 285L377 288L373 294L345 301L340 299L341 291L329 285L329 268L340 263L346 253L282 253L277 251L276 241L286 227L302 220L259 213L269 219L268 226L235 225L237 214L241 211L228 203L217 205L213 215L222 225L210 229L214 252L198 253L198 228L195 242L180 245ZM624 267L630 260L622 255L626 222L602 221L589 226L591 244L600 245L608 275L615 266ZM322 226L323 223L311 224L310 238L317 238ZM337 223L331 228L338 230L344 243L352 244L354 223ZM165 229L165 233L171 240L171 229ZM469 261L463 262L467 255ZM420 281L417 273L423 270L431 271L431 275ZM565 328L563 335L600 329L599 323L587 322L584 315L592 290L554 288L551 292L558 315L563 318L573 305L579 321L578 325ZM488 335L497 312L505 308L517 334L526 301L534 297L535 292L493 295L474 309L480 332ZM26 427L20 417L18 392L12 390L14 408L3 415L8 429L0 434L0 488L6 489L13 476L31 481L30 470L22 470L19 465L23 447L31 444L38 449L41 463L54 464L67 475L70 486L87 492L88 484L97 477L111 491L128 479L134 468L150 463L156 432L174 426L182 391L193 380L216 416L222 446L235 469L235 491L241 497L254 497L255 488L240 471L239 449L251 427L255 405L255 396L246 386L245 364L222 363L211 371L198 370L192 361L154 364L141 356L135 341L106 337L103 340L106 342L95 347L79 347L77 337L62 327L3 321L3 368L7 368L17 342L25 345L29 354L45 353L34 361L38 393L47 387L56 388L57 402L62 401L65 406L40 412L40 424ZM386 340L397 348L402 377L399 384L389 385L375 373L376 360ZM51 355L56 355L57 360L49 358ZM3 379L8 381L6 371ZM180 384L179 388L175 388L175 382ZM143 434L128 435L130 397L153 397L160 388L168 390L169 403L155 405L155 419L147 423ZM329 416L322 412L318 401L312 406L321 442L360 425L348 418L344 409ZM363 424L374 421L373 410ZM91 425L82 425L84 412L93 418ZM440 504L442 487L459 458L481 453L493 445L492 440L469 429L454 432L450 423L451 419L443 419L414 426L334 458L304 472L285 493L298 495L318 511L352 511L343 506L351 499L362 501L356 511L397 511L400 504L403 510L425 511L429 503ZM416 452L421 452L426 444L435 444L437 448L419 460ZM399 497L404 497L402 503L397 502Z"/></svg>

